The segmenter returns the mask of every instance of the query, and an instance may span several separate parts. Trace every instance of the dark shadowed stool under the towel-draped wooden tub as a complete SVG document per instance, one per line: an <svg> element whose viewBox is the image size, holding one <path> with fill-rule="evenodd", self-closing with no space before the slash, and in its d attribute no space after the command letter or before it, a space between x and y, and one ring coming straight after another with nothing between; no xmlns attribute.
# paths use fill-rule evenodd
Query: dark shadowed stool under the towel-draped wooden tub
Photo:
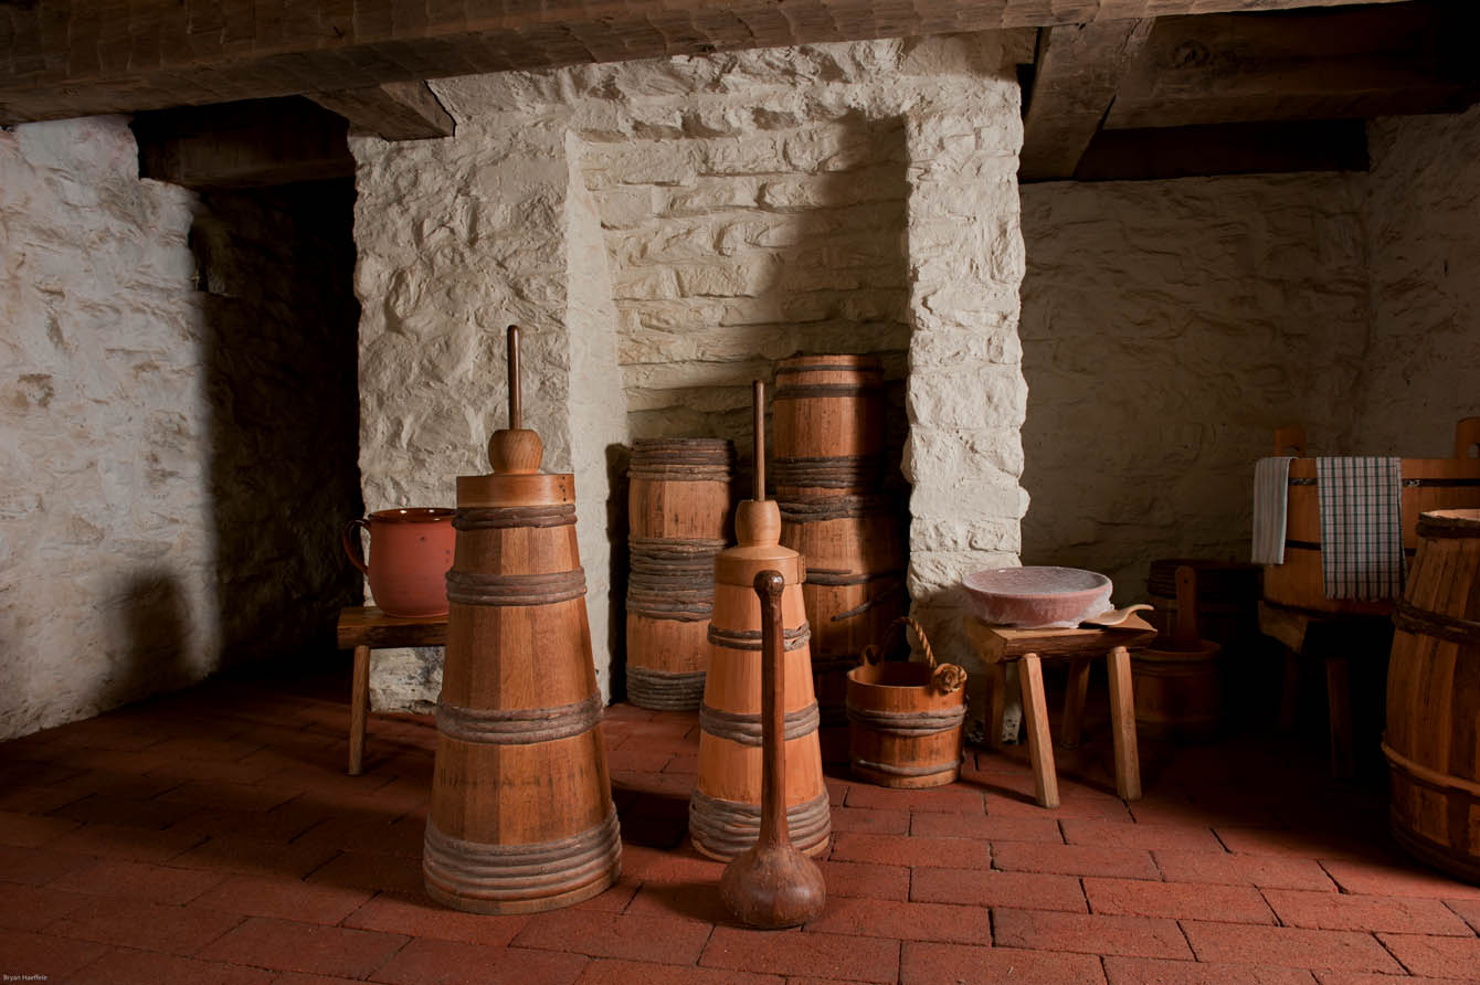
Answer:
<svg viewBox="0 0 1480 985"><path fill-rule="evenodd" d="M1285 646L1285 686L1280 695L1280 728L1295 728L1298 657L1326 664L1326 708L1331 719L1331 775L1356 775L1351 739L1353 657L1385 661L1393 648L1393 620L1385 615L1316 612L1259 602L1259 632Z"/></svg>

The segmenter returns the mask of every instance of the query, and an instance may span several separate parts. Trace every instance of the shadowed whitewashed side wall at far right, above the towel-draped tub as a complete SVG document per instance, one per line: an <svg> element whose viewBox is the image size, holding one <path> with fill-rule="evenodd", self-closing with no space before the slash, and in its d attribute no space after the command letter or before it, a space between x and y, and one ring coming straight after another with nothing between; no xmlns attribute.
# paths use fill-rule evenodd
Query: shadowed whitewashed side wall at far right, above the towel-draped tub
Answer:
<svg viewBox="0 0 1480 985"><path fill-rule="evenodd" d="M1449 457L1480 416L1480 106L1368 127L1372 340L1353 454Z"/></svg>

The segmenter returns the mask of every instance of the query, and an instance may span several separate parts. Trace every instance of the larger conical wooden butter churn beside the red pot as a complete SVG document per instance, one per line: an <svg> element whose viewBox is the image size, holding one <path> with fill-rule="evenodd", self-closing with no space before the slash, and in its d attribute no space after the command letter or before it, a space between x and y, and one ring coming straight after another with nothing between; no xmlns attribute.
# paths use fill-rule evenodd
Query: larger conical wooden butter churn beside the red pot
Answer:
<svg viewBox="0 0 1480 985"><path fill-rule="evenodd" d="M576 487L539 472L519 427L509 328L509 429L493 475L457 476L447 657L422 871L456 910L536 913L617 879L622 842L601 742L601 692L576 547Z"/></svg>

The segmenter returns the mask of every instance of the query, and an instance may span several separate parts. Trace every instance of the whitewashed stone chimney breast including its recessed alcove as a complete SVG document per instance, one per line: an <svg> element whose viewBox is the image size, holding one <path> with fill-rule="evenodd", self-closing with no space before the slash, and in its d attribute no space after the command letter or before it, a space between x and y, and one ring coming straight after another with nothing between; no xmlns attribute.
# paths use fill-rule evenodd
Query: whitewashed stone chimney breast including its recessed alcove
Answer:
<svg viewBox="0 0 1480 985"><path fill-rule="evenodd" d="M1003 43L981 34L451 80L435 87L454 138L355 141L367 507L441 501L453 475L482 470L503 399L488 352L509 321L530 328L540 389L527 414L548 467L592 473L605 457L577 447L588 424L607 422L608 441L747 445L747 386L774 359L882 352L897 377L916 364L932 373L909 407L912 586L946 655L961 658L950 586L1014 559L1023 512L1011 342L1021 127ZM610 287L588 275L588 192ZM617 331L605 343L608 311ZM567 411L573 396L580 405ZM619 404L628 414L614 423ZM969 422L962 405L977 408ZM593 506L607 497L599 482L577 482ZM607 584L593 556L585 562L595 623ZM602 627L593 636L605 680ZM417 682L422 701L435 697L425 657L400 676L377 667L377 704L406 707Z"/></svg>

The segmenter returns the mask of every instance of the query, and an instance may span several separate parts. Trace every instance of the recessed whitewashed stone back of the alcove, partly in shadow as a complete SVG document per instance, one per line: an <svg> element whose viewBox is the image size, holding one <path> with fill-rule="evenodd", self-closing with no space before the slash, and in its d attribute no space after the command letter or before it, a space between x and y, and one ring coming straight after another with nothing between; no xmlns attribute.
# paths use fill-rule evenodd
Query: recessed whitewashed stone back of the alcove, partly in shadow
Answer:
<svg viewBox="0 0 1480 985"><path fill-rule="evenodd" d="M709 173L702 164L697 186L653 188L656 219L607 229L630 433L733 441L733 488L736 498L749 498L752 380L768 385L770 430L778 359L875 353L887 380L887 482L903 504L910 336L904 123L851 115L765 136L784 149L758 166L768 169L762 176L727 175L727 167ZM733 143L702 139L694 149L700 161L724 161ZM593 194L599 203L601 191ZM623 285L633 284L642 290L623 296ZM650 296L653 284L669 293ZM767 447L774 456L770 435ZM608 454L608 466L611 513L626 521L625 461ZM622 614L611 620L614 698L626 679L626 522L611 525L611 611Z"/></svg>

